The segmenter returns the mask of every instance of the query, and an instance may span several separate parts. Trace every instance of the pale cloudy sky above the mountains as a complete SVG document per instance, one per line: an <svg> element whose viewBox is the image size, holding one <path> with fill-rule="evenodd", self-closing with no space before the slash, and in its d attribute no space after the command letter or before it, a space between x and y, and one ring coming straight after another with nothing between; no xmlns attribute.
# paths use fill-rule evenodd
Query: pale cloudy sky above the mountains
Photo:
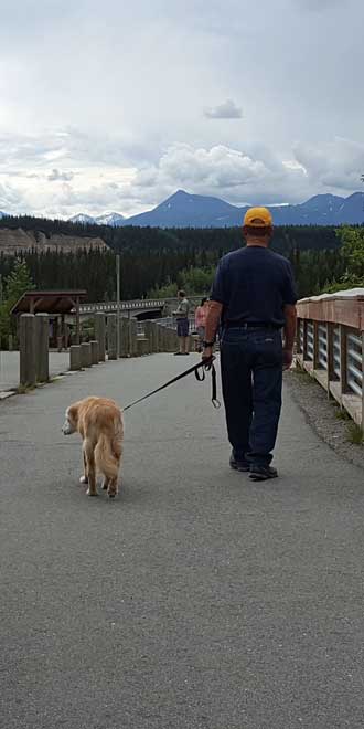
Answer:
<svg viewBox="0 0 364 729"><path fill-rule="evenodd" d="M0 0L0 18L2 211L361 189L363 0Z"/></svg>

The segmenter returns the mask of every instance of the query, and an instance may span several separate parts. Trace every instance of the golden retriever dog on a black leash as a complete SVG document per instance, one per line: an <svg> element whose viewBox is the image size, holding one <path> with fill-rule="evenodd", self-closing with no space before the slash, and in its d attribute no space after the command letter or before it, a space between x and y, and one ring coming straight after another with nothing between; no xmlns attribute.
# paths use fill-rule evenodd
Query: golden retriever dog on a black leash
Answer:
<svg viewBox="0 0 364 729"><path fill-rule="evenodd" d="M85 398L66 410L64 435L79 433L83 439L84 475L87 495L97 496L96 476L103 474L103 488L110 498L118 493L122 455L124 423L120 408L107 398Z"/></svg>

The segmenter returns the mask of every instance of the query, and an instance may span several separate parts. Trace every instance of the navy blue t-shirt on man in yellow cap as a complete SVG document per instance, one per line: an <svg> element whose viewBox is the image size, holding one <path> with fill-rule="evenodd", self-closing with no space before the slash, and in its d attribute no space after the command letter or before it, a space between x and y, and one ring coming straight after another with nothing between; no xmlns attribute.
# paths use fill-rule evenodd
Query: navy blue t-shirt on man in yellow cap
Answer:
<svg viewBox="0 0 364 729"><path fill-rule="evenodd" d="M282 327L286 304L296 304L291 264L269 249L249 245L225 255L211 298L223 304L223 323L249 321Z"/></svg>

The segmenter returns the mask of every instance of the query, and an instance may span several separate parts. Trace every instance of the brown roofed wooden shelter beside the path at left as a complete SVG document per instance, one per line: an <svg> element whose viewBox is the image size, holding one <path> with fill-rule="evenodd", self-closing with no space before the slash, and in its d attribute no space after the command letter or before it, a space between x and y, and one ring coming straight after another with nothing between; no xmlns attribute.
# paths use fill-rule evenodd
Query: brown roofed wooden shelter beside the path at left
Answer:
<svg viewBox="0 0 364 729"><path fill-rule="evenodd" d="M55 325L54 339L60 348L60 338L67 347L67 334L65 316L74 315L76 319L76 344L79 344L79 304L85 300L87 292L76 290L50 290L50 292L25 292L13 306L11 314L49 314L50 320ZM61 319L61 327L60 327ZM58 331L61 329L61 335ZM62 346L62 345L61 345Z"/></svg>

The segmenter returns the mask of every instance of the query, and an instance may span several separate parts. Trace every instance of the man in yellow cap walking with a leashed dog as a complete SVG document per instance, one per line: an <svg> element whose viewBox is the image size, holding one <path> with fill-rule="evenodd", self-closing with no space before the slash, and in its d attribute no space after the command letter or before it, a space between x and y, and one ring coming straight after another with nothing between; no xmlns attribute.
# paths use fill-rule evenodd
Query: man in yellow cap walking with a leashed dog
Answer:
<svg viewBox="0 0 364 729"><path fill-rule="evenodd" d="M292 363L297 296L289 261L268 249L269 210L250 208L243 233L246 247L225 255L217 267L202 357L212 356L221 325L231 467L249 471L254 480L266 480L278 475L270 466L271 452L281 409L282 369Z"/></svg>

